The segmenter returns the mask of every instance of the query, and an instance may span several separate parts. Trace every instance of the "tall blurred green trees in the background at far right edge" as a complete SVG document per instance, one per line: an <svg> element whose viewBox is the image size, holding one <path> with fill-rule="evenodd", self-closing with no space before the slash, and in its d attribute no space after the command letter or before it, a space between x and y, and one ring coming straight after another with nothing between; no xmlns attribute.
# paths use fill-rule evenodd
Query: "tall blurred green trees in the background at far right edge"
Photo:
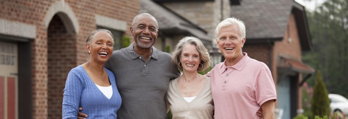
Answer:
<svg viewBox="0 0 348 119"><path fill-rule="evenodd" d="M326 0L315 11L307 12L313 43L303 53L303 62L322 71L329 93L348 97L348 1ZM315 77L308 80L313 86Z"/></svg>

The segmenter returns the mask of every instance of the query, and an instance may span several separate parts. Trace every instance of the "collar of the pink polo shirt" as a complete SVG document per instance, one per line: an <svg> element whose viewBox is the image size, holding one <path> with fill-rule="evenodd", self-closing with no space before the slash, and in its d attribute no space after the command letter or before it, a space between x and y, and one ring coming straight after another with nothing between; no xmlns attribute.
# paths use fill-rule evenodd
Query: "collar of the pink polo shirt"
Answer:
<svg viewBox="0 0 348 119"><path fill-rule="evenodd" d="M227 70L227 68L232 67L235 68L238 71L242 71L242 69L246 66L246 64L249 62L250 57L248 56L247 53L243 52L242 53L244 56L242 59L240 59L239 62L237 62L237 64L233 65L233 66L226 66L226 60L223 62L223 65L220 67L220 73L222 74L223 72L225 72Z"/></svg>

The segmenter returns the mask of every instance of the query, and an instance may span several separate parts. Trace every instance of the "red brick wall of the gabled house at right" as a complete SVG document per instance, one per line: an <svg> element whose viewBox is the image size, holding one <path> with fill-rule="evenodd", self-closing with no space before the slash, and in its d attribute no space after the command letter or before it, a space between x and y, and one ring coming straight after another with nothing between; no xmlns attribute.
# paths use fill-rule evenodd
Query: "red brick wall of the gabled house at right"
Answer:
<svg viewBox="0 0 348 119"><path fill-rule="evenodd" d="M277 72L277 64L279 61L279 56L290 56L292 58L295 58L299 61L302 61L301 57L301 44L299 40L299 35L296 27L295 17L293 14L290 15L288 20L287 29L284 33L284 39L281 41L276 41L274 45L271 47L272 49L269 50L269 46L267 44L264 45L244 45L243 52L248 53L248 56L251 58L261 61L269 66L272 72L273 80L275 81L275 85L277 87L277 79L278 79L278 72ZM291 41L289 40L291 38ZM248 42L248 39L246 39L246 42ZM270 61L270 51L272 51L271 56L271 66L269 64ZM298 75L298 81L301 82L302 80L302 74L299 73ZM302 92L301 87L297 89L298 92L298 109L302 108Z"/></svg>

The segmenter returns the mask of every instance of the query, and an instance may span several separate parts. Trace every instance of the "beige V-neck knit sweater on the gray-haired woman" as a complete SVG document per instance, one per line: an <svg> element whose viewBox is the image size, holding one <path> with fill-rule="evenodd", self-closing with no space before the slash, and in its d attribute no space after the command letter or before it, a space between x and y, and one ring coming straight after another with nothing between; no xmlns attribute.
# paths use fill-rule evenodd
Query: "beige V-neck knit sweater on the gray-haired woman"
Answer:
<svg viewBox="0 0 348 119"><path fill-rule="evenodd" d="M214 102L210 90L210 78L206 79L203 89L196 98L187 102L177 86L177 80L169 82L166 94L167 107L170 106L173 119L212 119Z"/></svg>

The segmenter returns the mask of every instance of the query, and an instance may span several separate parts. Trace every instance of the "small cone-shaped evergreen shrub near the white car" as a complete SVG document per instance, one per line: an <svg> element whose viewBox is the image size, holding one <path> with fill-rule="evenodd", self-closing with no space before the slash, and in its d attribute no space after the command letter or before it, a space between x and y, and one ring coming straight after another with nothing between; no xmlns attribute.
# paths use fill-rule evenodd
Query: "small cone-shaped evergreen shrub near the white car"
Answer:
<svg viewBox="0 0 348 119"><path fill-rule="evenodd" d="M325 84L322 80L322 74L317 72L316 82L314 85L313 98L311 101L311 111L314 116L330 116L330 102L326 91Z"/></svg>

